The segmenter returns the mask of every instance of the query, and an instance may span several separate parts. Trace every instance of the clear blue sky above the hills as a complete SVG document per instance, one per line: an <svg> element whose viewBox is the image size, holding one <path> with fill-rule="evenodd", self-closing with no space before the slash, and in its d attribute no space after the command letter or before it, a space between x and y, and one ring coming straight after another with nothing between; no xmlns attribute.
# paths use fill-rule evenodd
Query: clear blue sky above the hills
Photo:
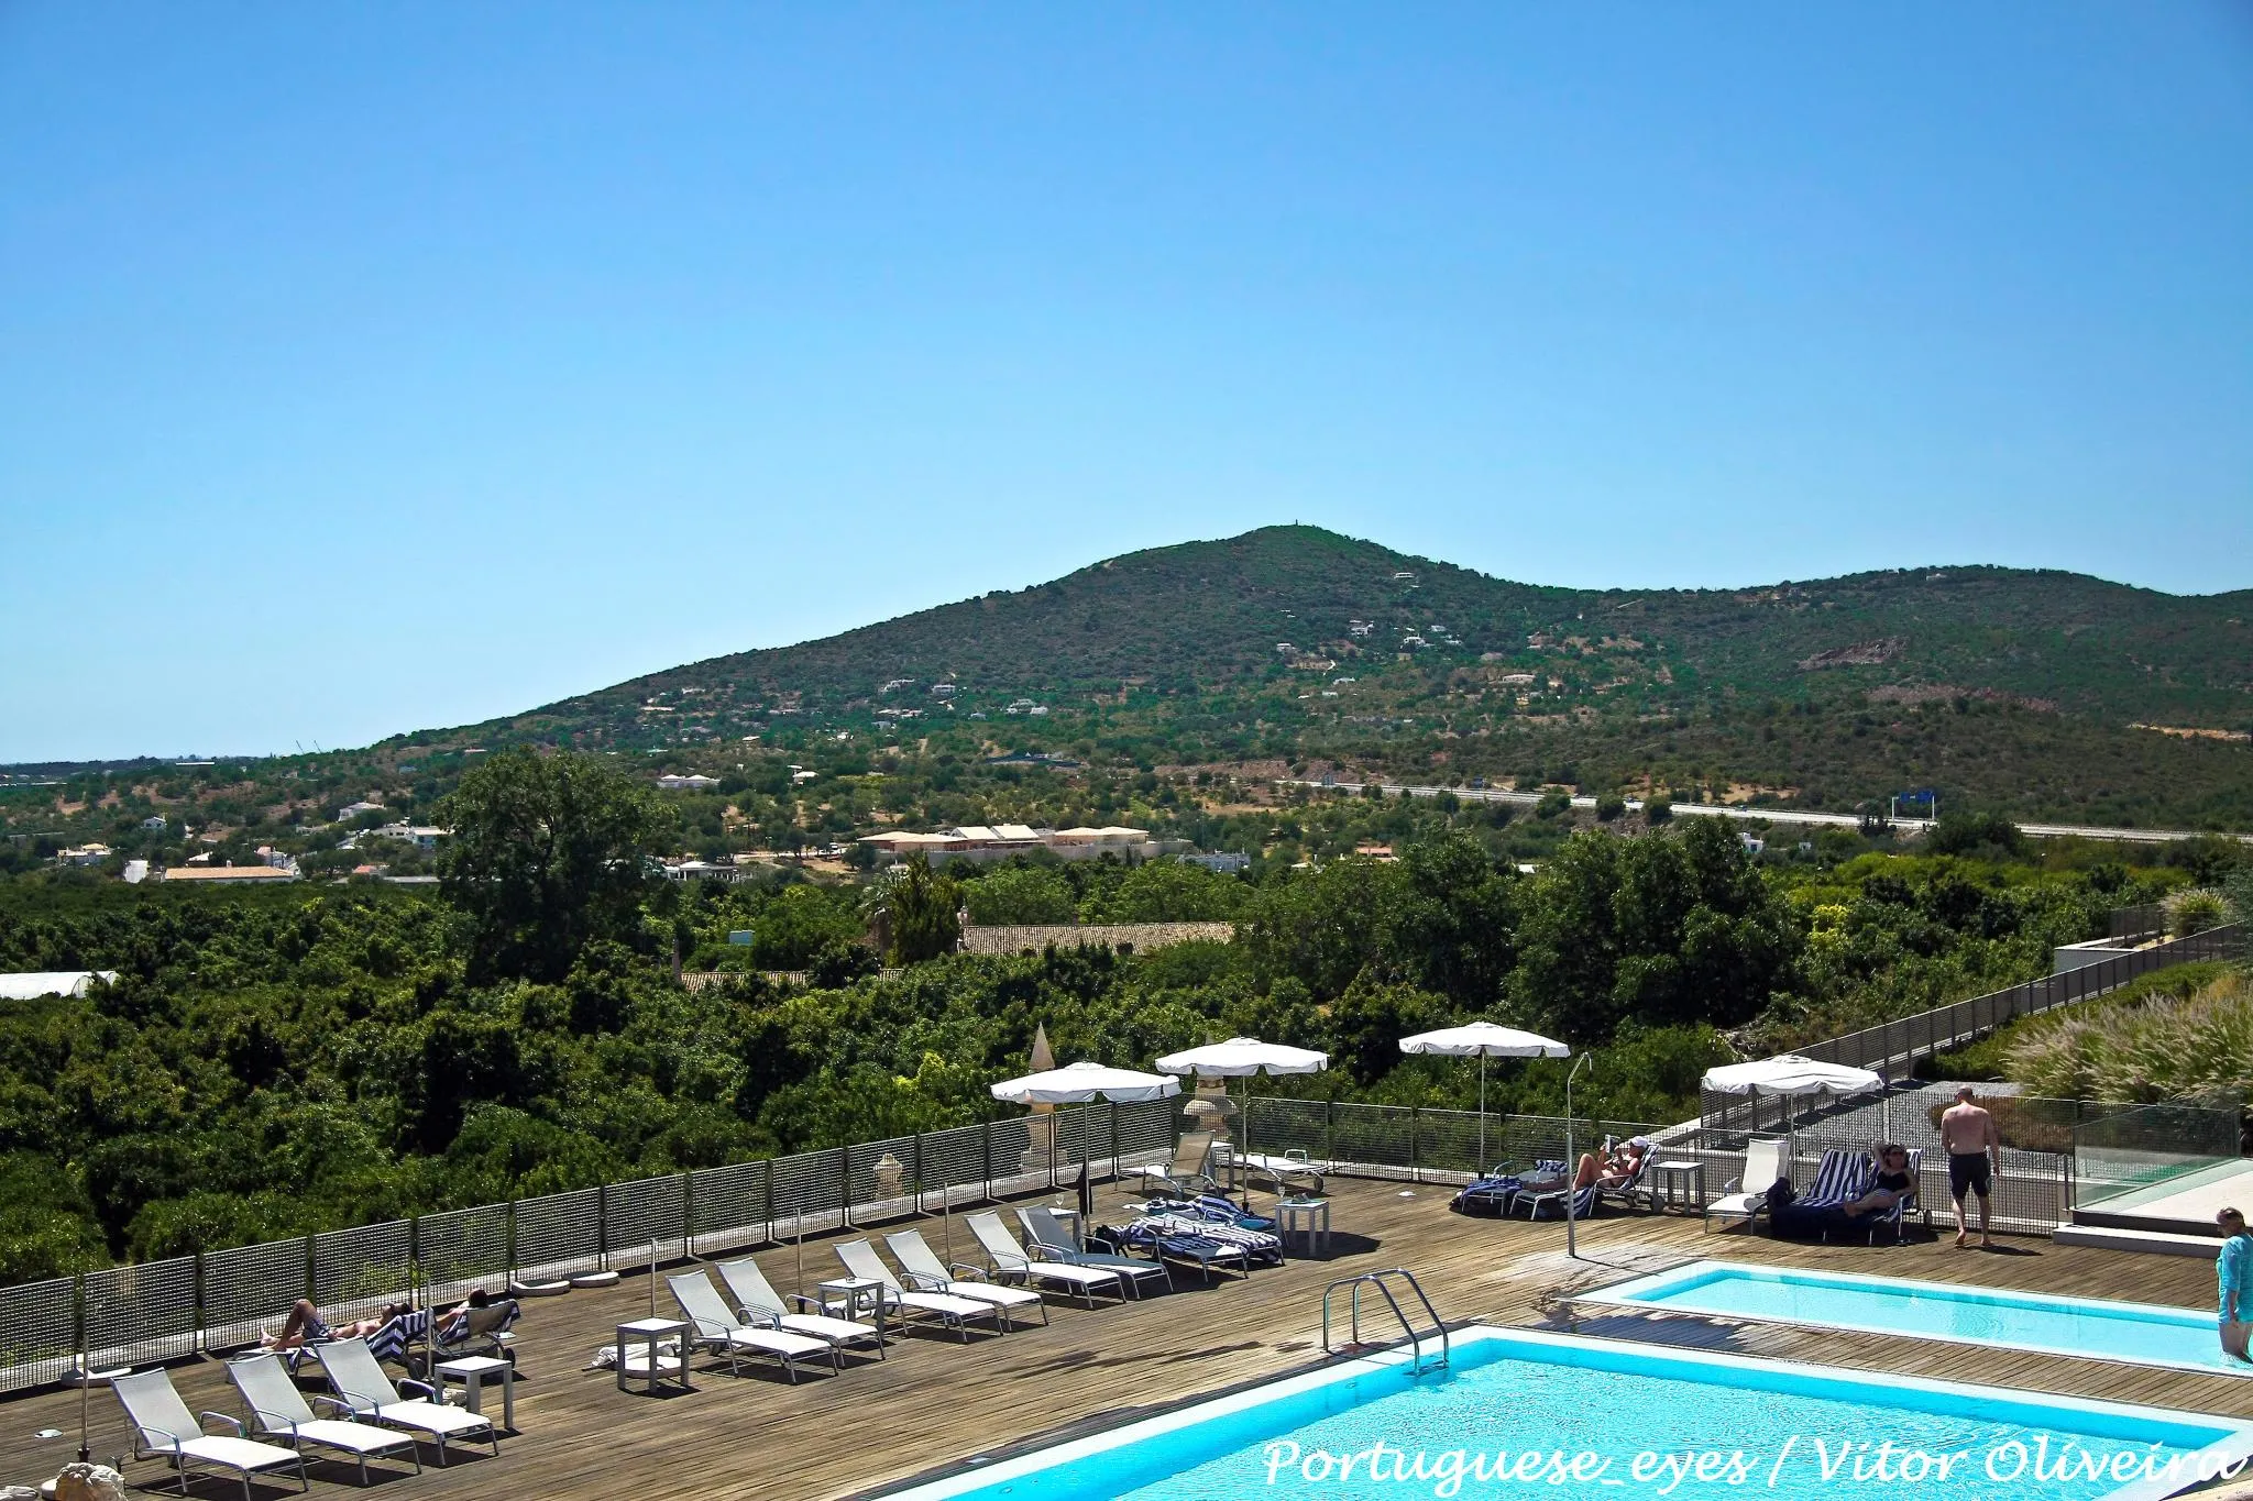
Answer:
<svg viewBox="0 0 2253 1501"><path fill-rule="evenodd" d="M2253 585L2253 7L0 0L0 761L1289 520Z"/></svg>

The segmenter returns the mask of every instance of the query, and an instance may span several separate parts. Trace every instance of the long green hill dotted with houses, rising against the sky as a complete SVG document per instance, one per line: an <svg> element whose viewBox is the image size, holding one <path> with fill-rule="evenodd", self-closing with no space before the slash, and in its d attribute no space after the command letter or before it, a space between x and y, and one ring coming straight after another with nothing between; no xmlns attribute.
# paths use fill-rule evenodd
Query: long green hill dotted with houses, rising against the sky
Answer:
<svg viewBox="0 0 2253 1501"><path fill-rule="evenodd" d="M2181 599L2061 572L1947 567L1753 590L1552 590L1268 527L1126 554L1021 592L712 657L527 720L624 731L647 704L725 720L843 709L912 680L976 695L1190 695L1291 662L1600 677L1649 707L1715 695L1976 698L2100 722L2253 722L2253 592ZM1291 646L1295 650L1282 650ZM1327 668L1316 668L1327 671ZM1872 698L1874 695L1874 698ZM707 700L703 704L689 700Z"/></svg>

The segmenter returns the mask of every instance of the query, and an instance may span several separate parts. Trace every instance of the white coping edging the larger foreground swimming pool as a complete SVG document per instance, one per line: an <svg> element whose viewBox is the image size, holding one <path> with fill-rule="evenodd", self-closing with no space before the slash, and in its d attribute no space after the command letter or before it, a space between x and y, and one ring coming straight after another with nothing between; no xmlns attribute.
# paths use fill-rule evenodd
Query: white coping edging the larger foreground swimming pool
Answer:
<svg viewBox="0 0 2253 1501"><path fill-rule="evenodd" d="M1649 1305L1647 1303L1636 1303L1633 1307L1649 1307ZM1627 1355L1633 1355L1638 1359L1647 1359L1647 1361L1651 1361L1656 1366L1667 1366L1667 1364L1674 1364L1674 1366L1703 1366L1703 1368L1710 1368L1710 1370L1712 1368L1719 1368L1719 1370L1762 1368L1762 1370L1793 1373L1793 1375L1805 1375L1805 1377L1811 1377L1811 1379L1829 1379L1829 1382L1843 1382L1843 1384L1850 1384L1850 1386L1879 1388L1879 1391L1915 1391L1915 1393L1938 1393L1938 1395L1951 1395L1951 1397L2005 1397L2005 1400L2023 1404L2023 1406L2050 1409L2050 1411L2059 1411L2059 1413L2091 1413L2091 1415L2104 1415L2104 1418L2127 1418L2131 1422L2176 1422L2176 1424L2192 1424L2192 1427L2217 1427L2217 1429L2228 1429L2228 1436L2219 1438L2219 1440L2215 1440L2210 1445L2206 1445L2203 1449L2192 1451L2190 1456L2185 1456L2192 1463L2192 1467L2194 1469L2203 1467L2203 1474L2215 1474L2215 1472L2219 1472L2226 1465L2248 1465L2248 1463L2253 1463L2253 1420L2228 1418L2228 1415L2221 1415L2221 1413L2192 1413L2192 1411L2183 1411L2183 1409L2143 1406L2143 1404L2134 1404L2134 1402L2107 1402L2107 1400L2098 1400L2098 1397L2066 1397L2066 1395L2055 1395L2055 1393L2046 1393L2046 1391L2023 1391L2023 1388L2016 1388L2016 1386L1978 1386L1978 1384L1971 1384L1971 1382L1938 1382L1938 1379L1922 1377L1922 1375L1893 1375L1893 1373L1884 1373L1884 1370L1854 1370L1854 1368L1847 1368L1847 1366L1818 1366L1818 1364L1811 1364L1811 1361L1769 1359L1769 1357L1757 1357L1757 1355L1717 1355L1712 1350L1676 1350L1676 1348L1669 1348L1669 1346L1645 1346L1645 1343L1624 1341L1624 1339L1593 1339L1593 1337L1586 1337L1586 1334L1552 1334L1548 1330L1519 1330L1519 1328L1505 1328L1505 1325L1491 1325L1491 1323L1473 1323L1473 1325L1453 1330L1453 1348L1458 1348L1458 1350L1462 1346L1467 1346L1467 1343L1478 1343L1478 1341L1489 1341L1489 1339L1500 1339L1500 1341L1512 1341L1512 1343L1532 1343L1532 1346L1577 1348L1577 1350L1627 1352ZM1043 1449L1032 1449L1027 1454L1016 1454L1016 1456L1005 1458L1005 1460L994 1460L991 1465L978 1465L978 1467L964 1469L960 1474L951 1474L951 1476L944 1476L944 1478L937 1478L937 1481L926 1481L924 1485L912 1485L912 1487L906 1487L906 1490L881 1490L876 1494L881 1494L883 1501L946 1501L951 1496L964 1496L964 1494L985 1490L987 1485L998 1485L998 1483L1005 1483L1005 1481L1025 1478L1025 1476L1039 1474L1043 1469L1052 1469L1057 1465L1068 1465L1072 1460L1088 1458L1093 1454L1106 1454L1111 1449L1122 1449L1126 1445L1136 1445L1136 1442L1142 1442L1142 1440L1149 1440L1149 1438L1158 1438L1158 1436L1165 1436L1165 1433L1178 1433L1183 1429L1201 1427L1201 1424L1212 1422L1217 1418L1226 1418L1230 1413L1241 1413L1241 1411L1248 1411L1248 1409L1255 1409L1255 1406L1264 1406L1268 1402L1275 1402L1280 1397L1291 1397L1291 1395L1298 1395L1302 1391L1316 1391L1320 1386L1332 1386L1336 1382L1350 1382L1350 1379L1354 1379L1359 1375L1368 1375L1372 1368L1404 1366L1410 1359L1415 1359L1413 1350L1383 1350L1383 1352L1368 1355L1368 1357L1361 1357L1361 1359L1345 1359L1345 1361L1338 1361L1334 1366L1323 1366L1318 1370L1304 1370L1300 1375L1286 1375L1286 1377L1277 1377L1273 1382L1262 1382L1257 1386L1248 1386L1244 1391L1235 1391L1235 1393L1228 1393L1223 1397L1212 1397L1210 1402L1192 1402L1192 1404L1181 1406L1181 1409L1176 1409L1172 1413L1160 1413L1156 1418L1142 1418L1138 1422L1129 1422L1129 1424L1122 1424L1122 1427L1115 1427L1115 1429L1104 1429L1102 1433L1090 1433L1086 1438L1072 1438L1072 1440L1066 1440L1066 1442L1059 1442L1059 1445L1050 1445L1050 1447L1043 1447ZM1728 1382L1728 1384L1735 1384L1735 1382ZM1726 1442L1726 1436L1717 1436L1717 1440ZM2197 1474L2190 1476L2190 1478L2183 1478L2183 1481L2170 1481L2170 1478L2136 1481L2136 1483L2125 1485L2120 1490L2109 1490L2102 1496L2098 1496L2095 1501L2165 1501L2165 1496L2174 1496L2174 1494L2179 1494L2183 1490L2190 1490L2192 1485L2199 1485ZM1631 1492L1627 1492L1627 1494L1631 1494Z"/></svg>

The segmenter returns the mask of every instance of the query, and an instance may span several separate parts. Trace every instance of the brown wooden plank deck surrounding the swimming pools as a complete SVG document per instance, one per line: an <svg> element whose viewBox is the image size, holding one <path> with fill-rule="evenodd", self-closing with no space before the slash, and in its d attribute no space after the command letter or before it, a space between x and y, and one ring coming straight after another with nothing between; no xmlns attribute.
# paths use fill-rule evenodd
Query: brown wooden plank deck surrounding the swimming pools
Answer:
<svg viewBox="0 0 2253 1501"><path fill-rule="evenodd" d="M1413 1197L1410 1197L1413 1195ZM1336 1235L1329 1258L1291 1260L1248 1283L1196 1287L1142 1303L1050 1301L1048 1328L976 1337L969 1346L937 1332L894 1341L890 1359L847 1361L845 1375L809 1375L789 1386L759 1366L728 1375L698 1359L694 1391L676 1397L629 1395L588 1359L624 1319L649 1307L647 1278L572 1292L527 1305L516 1393L518 1436L500 1458L460 1456L448 1469L390 1476L376 1490L451 1501L457 1496L849 1496L906 1476L1000 1454L1068 1429L1111 1427L1126 1418L1320 1357L1320 1296L1338 1276L1410 1267L1449 1321L1568 1328L1584 1334L1647 1339L1710 1350L1818 1359L1838 1366L1992 1382L2037 1391L2116 1397L2253 1418L2253 1379L2050 1355L2012 1355L1906 1337L1816 1334L1687 1316L1651 1316L1561 1305L1557 1294L1654 1271L1699 1256L1784 1260L1904 1278L2136 1298L2210 1307L2212 1269L2172 1256L2127 1256L2048 1240L2003 1240L1996 1251L1958 1251L1949 1235L1906 1247L1798 1247L1748 1235L1703 1235L1697 1217L1622 1215L1582 1226L1584 1260L1564 1253L1561 1224L1464 1220L1446 1213L1449 1188L1372 1181L1334 1184ZM1045 1202L1045 1197L1041 1199ZM1111 1206L1106 1195L1099 1211ZM1102 1217L1102 1213L1097 1215ZM937 1220L924 1222L933 1244ZM955 1249L969 1238L955 1226ZM777 1287L798 1285L791 1247L759 1251ZM829 1247L804 1247L807 1285L838 1274ZM279 1307L275 1314L279 1316ZM658 1312L671 1316L669 1301ZM1586 1314L1586 1316L1575 1316ZM176 1366L189 1406L239 1411L214 1361ZM498 1411L489 1391L489 1411ZM117 1402L88 1402L97 1458L128 1449ZM29 1393L0 1402L0 1483L38 1483L77 1447L77 1393ZM38 1440L38 1429L63 1438ZM340 1465L315 1465L315 1487L345 1494ZM128 1481L169 1481L158 1463L126 1465ZM241 1494L232 1481L203 1478L196 1494ZM261 1494L282 1494L261 1487Z"/></svg>

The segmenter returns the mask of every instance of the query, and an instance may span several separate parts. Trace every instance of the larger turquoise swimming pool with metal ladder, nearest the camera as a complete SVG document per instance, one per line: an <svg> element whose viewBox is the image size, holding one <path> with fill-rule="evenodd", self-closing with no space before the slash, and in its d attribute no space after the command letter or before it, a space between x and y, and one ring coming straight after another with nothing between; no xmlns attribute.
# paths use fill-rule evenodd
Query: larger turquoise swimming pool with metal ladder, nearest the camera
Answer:
<svg viewBox="0 0 2253 1501"><path fill-rule="evenodd" d="M2248 1454L2230 1418L1473 1328L1446 1370L1327 1366L894 1501L2156 1501Z"/></svg>

